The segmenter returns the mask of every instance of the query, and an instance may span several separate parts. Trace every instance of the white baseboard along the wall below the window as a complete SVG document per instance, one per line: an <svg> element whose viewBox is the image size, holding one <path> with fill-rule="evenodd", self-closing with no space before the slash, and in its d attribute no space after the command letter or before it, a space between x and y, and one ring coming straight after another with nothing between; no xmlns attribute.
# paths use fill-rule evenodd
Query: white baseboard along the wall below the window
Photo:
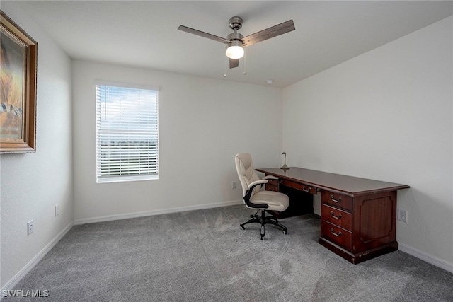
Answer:
<svg viewBox="0 0 453 302"><path fill-rule="evenodd" d="M160 209L160 210L152 210L152 211L141 211L141 212L127 213L127 214L98 216L98 217L92 217L92 218L86 218L86 219L76 219L76 220L74 220L74 225L79 225L79 224L84 224L84 223L96 223L96 222L103 222L103 221L113 221L113 220L120 220L120 219L130 219L130 218L145 217L145 216L154 216L154 215L161 215L161 214L171 214L171 213L177 213L180 211L211 209L211 208L217 208L217 207L232 206L235 204L242 204L242 203L243 203L242 200L235 200L235 201L231 201L231 202L216 202L214 204L198 204L195 206L188 206L188 207L178 207L178 208Z"/></svg>

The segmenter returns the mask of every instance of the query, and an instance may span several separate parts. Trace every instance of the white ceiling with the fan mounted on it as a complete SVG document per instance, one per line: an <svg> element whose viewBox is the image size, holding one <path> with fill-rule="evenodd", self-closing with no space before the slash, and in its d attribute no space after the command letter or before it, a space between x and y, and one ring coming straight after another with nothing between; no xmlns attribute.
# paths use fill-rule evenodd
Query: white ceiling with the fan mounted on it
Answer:
<svg viewBox="0 0 453 302"><path fill-rule="evenodd" d="M19 1L73 59L285 87L453 14L453 1ZM289 19L296 30L246 48L227 66L224 45L177 30L244 36ZM39 43L39 41L38 41ZM38 44L39 45L39 44ZM227 74L226 78L224 74Z"/></svg>

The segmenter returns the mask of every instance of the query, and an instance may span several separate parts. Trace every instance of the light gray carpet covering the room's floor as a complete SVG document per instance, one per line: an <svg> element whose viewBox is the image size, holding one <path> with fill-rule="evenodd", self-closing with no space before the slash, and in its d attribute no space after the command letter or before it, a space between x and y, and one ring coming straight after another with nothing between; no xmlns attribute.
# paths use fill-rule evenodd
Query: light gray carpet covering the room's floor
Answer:
<svg viewBox="0 0 453 302"><path fill-rule="evenodd" d="M453 301L453 274L396 251L352 265L317 241L319 216L260 240L243 205L74 226L2 301Z"/></svg>

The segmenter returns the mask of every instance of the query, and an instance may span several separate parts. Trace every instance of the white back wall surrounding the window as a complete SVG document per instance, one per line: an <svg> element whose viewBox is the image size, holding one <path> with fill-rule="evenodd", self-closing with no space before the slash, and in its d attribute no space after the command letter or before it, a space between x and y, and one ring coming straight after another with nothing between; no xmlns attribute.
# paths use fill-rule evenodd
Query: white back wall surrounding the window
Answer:
<svg viewBox="0 0 453 302"><path fill-rule="evenodd" d="M95 80L160 87L159 180L96 183ZM74 223L240 201L236 153L280 164L279 88L74 61L73 89Z"/></svg>

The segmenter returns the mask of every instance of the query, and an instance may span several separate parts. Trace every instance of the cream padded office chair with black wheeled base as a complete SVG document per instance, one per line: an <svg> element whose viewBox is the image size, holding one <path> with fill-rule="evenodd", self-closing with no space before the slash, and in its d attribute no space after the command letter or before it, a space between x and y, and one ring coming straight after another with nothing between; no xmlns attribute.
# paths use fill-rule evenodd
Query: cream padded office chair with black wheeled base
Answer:
<svg viewBox="0 0 453 302"><path fill-rule="evenodd" d="M261 240L264 240L265 224L273 224L282 228L283 233L287 234L286 226L280 224L273 211L285 211L289 206L289 197L280 192L264 191L262 187L268 183L268 179L277 179L275 176L265 176L260 180L253 169L252 158L248 153L239 153L234 156L236 171L241 180L243 202L249 209L257 209L256 214L251 215L248 221L241 224L241 230L247 223L261 224ZM258 212L261 211L261 216ZM272 216L265 216L269 213Z"/></svg>

